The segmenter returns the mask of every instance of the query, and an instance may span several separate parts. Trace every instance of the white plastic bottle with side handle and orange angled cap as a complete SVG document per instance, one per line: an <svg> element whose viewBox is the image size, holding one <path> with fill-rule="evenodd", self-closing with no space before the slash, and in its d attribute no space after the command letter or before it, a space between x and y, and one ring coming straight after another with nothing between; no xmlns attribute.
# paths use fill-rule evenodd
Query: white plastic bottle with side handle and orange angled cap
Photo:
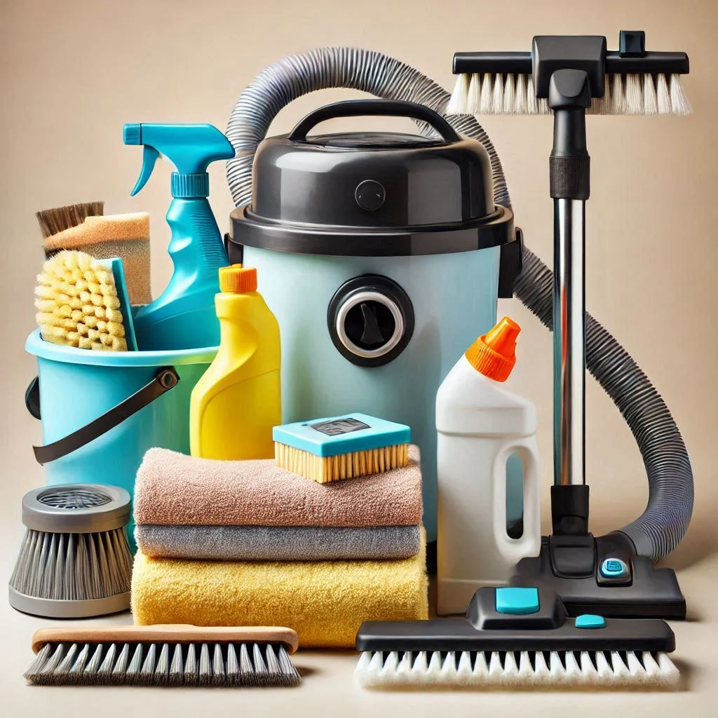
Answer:
<svg viewBox="0 0 718 718"><path fill-rule="evenodd" d="M454 365L437 393L437 613L464 613L541 548L536 406L503 384L521 328L504 317ZM523 467L523 533L507 530L507 462ZM518 475L521 480L521 474ZM520 494L519 494L520 495Z"/></svg>

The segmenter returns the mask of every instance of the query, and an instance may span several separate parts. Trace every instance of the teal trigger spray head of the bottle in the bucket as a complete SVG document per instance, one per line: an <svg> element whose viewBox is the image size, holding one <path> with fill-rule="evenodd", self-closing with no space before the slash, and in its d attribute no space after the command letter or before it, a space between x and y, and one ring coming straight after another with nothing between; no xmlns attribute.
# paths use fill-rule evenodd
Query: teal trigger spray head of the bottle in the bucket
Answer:
<svg viewBox="0 0 718 718"><path fill-rule="evenodd" d="M177 168L172 174L174 197L207 197L210 162L234 157L232 144L213 125L129 123L123 128L123 141L144 145L142 171L132 195L146 185L160 153Z"/></svg>

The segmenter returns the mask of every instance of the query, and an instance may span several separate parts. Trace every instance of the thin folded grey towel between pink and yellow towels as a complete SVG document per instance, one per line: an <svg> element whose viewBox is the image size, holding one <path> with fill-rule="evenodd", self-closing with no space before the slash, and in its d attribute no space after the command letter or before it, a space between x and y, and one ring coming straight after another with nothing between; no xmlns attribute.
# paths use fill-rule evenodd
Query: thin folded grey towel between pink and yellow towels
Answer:
<svg viewBox="0 0 718 718"><path fill-rule="evenodd" d="M419 526L135 526L146 556L220 561L363 561L410 559Z"/></svg>

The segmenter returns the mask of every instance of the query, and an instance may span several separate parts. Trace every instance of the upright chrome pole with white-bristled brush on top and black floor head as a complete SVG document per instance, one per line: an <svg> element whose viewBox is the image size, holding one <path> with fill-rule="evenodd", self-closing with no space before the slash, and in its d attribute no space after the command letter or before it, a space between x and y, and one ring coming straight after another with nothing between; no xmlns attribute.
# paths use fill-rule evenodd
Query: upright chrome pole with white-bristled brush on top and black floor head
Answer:
<svg viewBox="0 0 718 718"><path fill-rule="evenodd" d="M621 32L615 51L606 49L605 37L551 35L534 37L531 52L454 55L454 73L460 77L449 112L554 116L549 159L554 200L553 315L550 307L532 307L554 331L553 533L544 537L539 556L519 562L511 584L550 587L573 616L586 612L634 618L686 616L676 574L671 569L655 569L653 560L668 554L680 540L685 527L682 517L686 510L690 516L692 508L692 482L681 484L684 494L671 493L668 515L666 504L659 504L653 494L673 480L679 485L671 474L685 476L687 469L690 480L687 457L649 470L651 500L640 530L634 522L607 536L589 533L584 462L584 250L585 205L590 194L587 113L685 115L691 108L681 88L681 75L688 72L686 53L647 52L642 31ZM594 337L594 355L595 351ZM604 365L616 361L610 353L601 358ZM594 356L596 371L595 365ZM646 412L640 402L657 396L650 383L648 387L640 380L630 386L625 381L624 386L611 384L607 391L636 434L647 466L658 464L655 458L648 459L649 450L654 457L661 444L681 446L680 434L662 404L655 410L651 435L636 428L636 416Z"/></svg>

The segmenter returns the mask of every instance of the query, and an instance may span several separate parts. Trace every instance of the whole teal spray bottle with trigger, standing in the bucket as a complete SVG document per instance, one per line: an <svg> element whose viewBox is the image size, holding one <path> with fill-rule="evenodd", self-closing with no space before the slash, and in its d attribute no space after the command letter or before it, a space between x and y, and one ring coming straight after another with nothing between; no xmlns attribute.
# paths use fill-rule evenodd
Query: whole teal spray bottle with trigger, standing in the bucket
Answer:
<svg viewBox="0 0 718 718"><path fill-rule="evenodd" d="M229 261L207 200L207 167L215 160L234 157L234 148L216 127L188 124L126 124L124 144L144 145L142 171L131 195L146 185L160 154L177 169L172 172L173 199L167 211L174 272L164 292L138 309L134 320L137 344L146 351L217 346L218 270Z"/></svg>

